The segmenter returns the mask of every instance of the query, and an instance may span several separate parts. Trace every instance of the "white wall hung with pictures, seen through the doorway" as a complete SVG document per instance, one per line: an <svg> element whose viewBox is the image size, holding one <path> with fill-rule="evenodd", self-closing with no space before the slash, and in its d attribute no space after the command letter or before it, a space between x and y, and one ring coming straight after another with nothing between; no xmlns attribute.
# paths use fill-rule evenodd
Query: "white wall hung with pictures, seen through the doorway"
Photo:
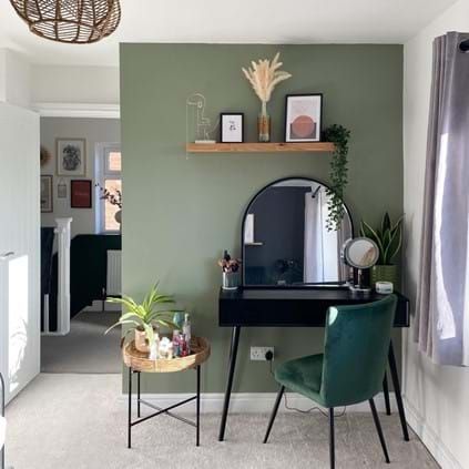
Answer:
<svg viewBox="0 0 469 469"><path fill-rule="evenodd" d="M86 140L86 175L79 177L62 177L57 174L57 139ZM92 208L70 207L70 181L72 179L92 180L94 188L94 161L96 143L119 143L121 141L120 121L116 119L74 119L74 118L41 118L41 145L49 150L52 159L41 167L41 174L53 176L53 212L41 214L42 226L55 226L57 217L73 218L72 237L77 234L92 234L96 232L95 210L96 201L93 191ZM58 198L59 181L67 184L67 198Z"/></svg>

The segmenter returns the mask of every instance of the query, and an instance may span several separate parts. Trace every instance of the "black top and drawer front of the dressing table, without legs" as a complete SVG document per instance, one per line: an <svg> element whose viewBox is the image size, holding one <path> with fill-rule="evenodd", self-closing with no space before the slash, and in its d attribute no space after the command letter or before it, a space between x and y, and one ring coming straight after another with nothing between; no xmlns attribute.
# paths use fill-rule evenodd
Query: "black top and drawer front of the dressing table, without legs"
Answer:
<svg viewBox="0 0 469 469"><path fill-rule="evenodd" d="M396 293L398 304L395 327L409 327L409 300ZM371 293L357 298L348 288L238 288L220 290L220 326L244 327L324 327L329 306L376 302L383 295Z"/></svg>

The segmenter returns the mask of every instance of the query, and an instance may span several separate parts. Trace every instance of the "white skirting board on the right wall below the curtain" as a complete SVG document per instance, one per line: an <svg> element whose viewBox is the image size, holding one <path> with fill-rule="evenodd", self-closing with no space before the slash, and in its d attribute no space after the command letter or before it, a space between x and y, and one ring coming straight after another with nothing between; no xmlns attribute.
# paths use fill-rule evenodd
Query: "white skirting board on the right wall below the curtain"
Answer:
<svg viewBox="0 0 469 469"><path fill-rule="evenodd" d="M419 411L404 397L407 422L442 469L463 469Z"/></svg>

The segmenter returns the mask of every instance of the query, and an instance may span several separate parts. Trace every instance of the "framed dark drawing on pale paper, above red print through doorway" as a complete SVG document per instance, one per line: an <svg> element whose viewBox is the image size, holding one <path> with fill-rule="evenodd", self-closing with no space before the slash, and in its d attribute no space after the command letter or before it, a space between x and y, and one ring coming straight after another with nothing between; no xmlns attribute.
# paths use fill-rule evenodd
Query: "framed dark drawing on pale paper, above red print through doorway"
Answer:
<svg viewBox="0 0 469 469"><path fill-rule="evenodd" d="M84 139L57 139L57 174L59 176L86 174L86 141Z"/></svg>

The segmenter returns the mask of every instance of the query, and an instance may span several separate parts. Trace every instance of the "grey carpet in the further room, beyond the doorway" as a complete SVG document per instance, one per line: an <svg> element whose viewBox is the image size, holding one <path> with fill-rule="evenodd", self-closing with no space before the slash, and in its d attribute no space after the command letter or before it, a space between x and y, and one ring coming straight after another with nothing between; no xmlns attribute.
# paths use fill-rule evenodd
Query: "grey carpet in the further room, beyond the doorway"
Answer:
<svg viewBox="0 0 469 469"><path fill-rule="evenodd" d="M121 373L120 327L108 335L119 312L82 312L70 325L67 336L41 337L41 371L43 373Z"/></svg>

